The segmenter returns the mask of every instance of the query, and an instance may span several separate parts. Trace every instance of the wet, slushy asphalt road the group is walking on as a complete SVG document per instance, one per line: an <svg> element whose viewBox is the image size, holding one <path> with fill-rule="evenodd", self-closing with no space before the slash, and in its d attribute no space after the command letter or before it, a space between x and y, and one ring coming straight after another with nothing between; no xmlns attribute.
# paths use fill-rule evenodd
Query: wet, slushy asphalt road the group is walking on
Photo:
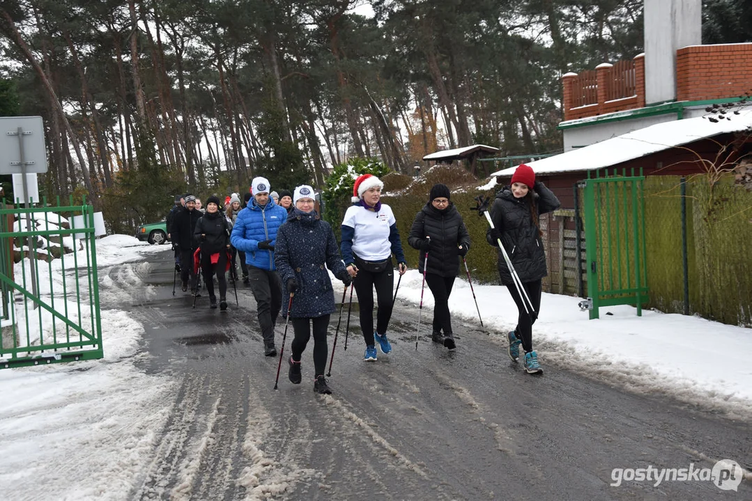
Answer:
<svg viewBox="0 0 752 501"><path fill-rule="evenodd" d="M345 311L331 396L312 391L312 341L302 384L283 363L274 391L278 358L262 355L250 289L238 285L239 308L231 285L228 311L209 309L206 295L193 309L193 297L172 295L171 253L152 259L135 269L153 293L123 285L130 306L117 307L146 330L141 369L173 377L178 390L132 499L752 499L749 480L738 492L710 481L609 485L616 467L710 468L729 458L750 470L748 422L550 363L528 376L496 333L470 324L455 323L455 352L431 343L429 329L416 350L414 306L398 303L394 352L372 364L359 335L344 351ZM357 324L353 300L351 334ZM280 319L277 348L283 330ZM292 327L287 355L291 340Z"/></svg>

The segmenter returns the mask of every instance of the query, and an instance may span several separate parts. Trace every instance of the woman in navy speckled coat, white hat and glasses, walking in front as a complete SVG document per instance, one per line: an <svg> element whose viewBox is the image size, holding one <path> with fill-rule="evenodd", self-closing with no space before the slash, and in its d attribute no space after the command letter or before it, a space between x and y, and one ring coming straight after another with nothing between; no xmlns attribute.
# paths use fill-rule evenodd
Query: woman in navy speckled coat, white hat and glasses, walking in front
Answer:
<svg viewBox="0 0 752 501"><path fill-rule="evenodd" d="M322 221L314 210L314 189L307 185L298 186L293 200L295 208L277 231L274 255L277 273L287 293L294 294L290 320L293 321L295 338L289 361L289 377L295 385L301 382L300 361L311 339L313 324L314 391L330 394L332 391L324 378L329 353L326 329L329 327L329 315L335 312L335 300L332 280L326 268L332 270L345 287L352 280L340 259L332 227Z"/></svg>

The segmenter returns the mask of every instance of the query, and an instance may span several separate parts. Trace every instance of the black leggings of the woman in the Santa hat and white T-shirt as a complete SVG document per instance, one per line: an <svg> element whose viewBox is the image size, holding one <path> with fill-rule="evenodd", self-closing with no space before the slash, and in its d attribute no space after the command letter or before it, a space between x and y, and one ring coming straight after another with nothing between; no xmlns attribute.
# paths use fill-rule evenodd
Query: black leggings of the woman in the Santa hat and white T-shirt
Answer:
<svg viewBox="0 0 752 501"><path fill-rule="evenodd" d="M353 279L355 292L358 295L360 308L360 328L366 346L375 344L374 341L374 286L378 312L376 314L376 330L379 334L387 333L389 320L392 318L392 291L394 288L394 270L388 267L384 271L372 273L362 268Z"/></svg>

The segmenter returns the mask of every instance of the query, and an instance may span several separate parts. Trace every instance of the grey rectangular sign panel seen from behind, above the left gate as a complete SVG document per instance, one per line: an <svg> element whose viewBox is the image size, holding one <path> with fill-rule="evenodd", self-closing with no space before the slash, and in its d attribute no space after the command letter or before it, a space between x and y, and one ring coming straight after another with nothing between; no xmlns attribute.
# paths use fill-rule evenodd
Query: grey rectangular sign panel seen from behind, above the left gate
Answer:
<svg viewBox="0 0 752 501"><path fill-rule="evenodd" d="M42 117L0 116L0 174L32 172L47 172Z"/></svg>

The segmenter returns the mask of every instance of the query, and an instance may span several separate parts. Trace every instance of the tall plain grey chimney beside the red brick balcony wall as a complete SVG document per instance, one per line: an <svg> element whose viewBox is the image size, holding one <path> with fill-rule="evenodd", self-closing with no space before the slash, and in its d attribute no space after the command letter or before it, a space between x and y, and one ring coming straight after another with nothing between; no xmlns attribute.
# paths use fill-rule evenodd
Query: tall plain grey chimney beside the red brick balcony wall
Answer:
<svg viewBox="0 0 752 501"><path fill-rule="evenodd" d="M702 0L644 0L645 102L676 100L676 51L702 44Z"/></svg>

